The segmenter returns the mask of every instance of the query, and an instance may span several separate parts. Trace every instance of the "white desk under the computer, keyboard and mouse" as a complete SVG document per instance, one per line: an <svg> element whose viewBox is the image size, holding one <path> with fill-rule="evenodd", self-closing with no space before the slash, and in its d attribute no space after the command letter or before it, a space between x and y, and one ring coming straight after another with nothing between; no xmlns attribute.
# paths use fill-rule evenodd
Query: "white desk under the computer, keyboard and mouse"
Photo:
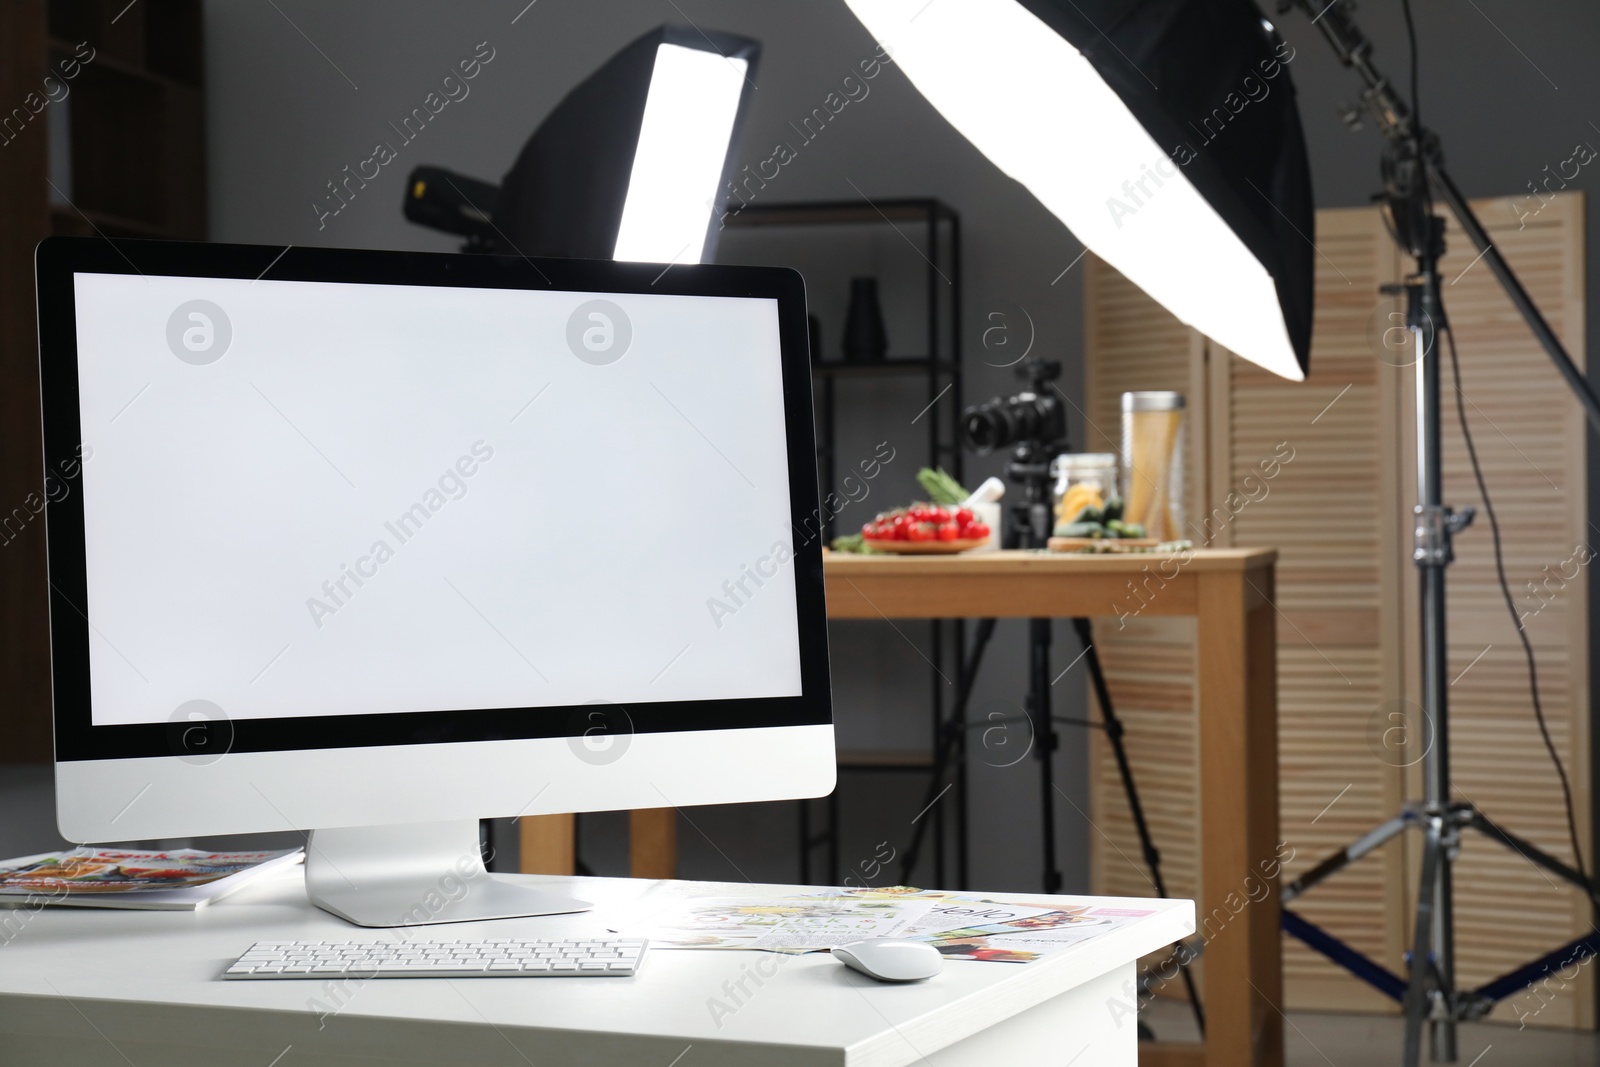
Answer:
<svg viewBox="0 0 1600 1067"><path fill-rule="evenodd" d="M594 936L626 929L682 896L795 888L526 878L598 907L408 933L419 939ZM322 1017L334 1003L320 981L219 977L253 941L384 937L310 907L294 869L200 912L42 909L21 913L27 915L21 928L21 915L13 913L14 936L0 944L0 1062L1133 1067L1134 1019L1126 1008L1134 960L1192 933L1194 904L1098 902L1155 913L1038 963L950 960L936 979L914 985L874 982L826 953L659 950L635 977L350 981L342 1006ZM725 984L757 963L773 976L760 987L747 979L750 995L718 1025L712 998L733 1003Z"/></svg>

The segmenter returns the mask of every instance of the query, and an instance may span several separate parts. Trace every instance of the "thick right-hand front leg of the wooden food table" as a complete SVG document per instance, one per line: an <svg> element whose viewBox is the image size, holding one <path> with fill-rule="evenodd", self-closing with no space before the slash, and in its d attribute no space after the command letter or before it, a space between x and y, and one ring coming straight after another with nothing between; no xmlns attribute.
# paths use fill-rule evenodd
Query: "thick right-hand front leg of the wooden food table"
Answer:
<svg viewBox="0 0 1600 1067"><path fill-rule="evenodd" d="M1272 569L1198 576L1206 1064L1282 1067L1277 619Z"/></svg>

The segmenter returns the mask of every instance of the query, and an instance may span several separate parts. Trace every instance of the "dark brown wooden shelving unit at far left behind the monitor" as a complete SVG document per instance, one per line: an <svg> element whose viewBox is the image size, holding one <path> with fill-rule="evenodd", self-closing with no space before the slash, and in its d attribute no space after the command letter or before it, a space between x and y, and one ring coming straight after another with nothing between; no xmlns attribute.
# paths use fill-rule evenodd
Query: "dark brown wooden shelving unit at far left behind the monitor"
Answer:
<svg viewBox="0 0 1600 1067"><path fill-rule="evenodd" d="M205 240L200 0L0 3L0 499L42 491L34 246ZM54 186L54 189L51 189ZM0 552L0 758L51 757L43 523ZM14 541L16 544L11 544Z"/></svg>

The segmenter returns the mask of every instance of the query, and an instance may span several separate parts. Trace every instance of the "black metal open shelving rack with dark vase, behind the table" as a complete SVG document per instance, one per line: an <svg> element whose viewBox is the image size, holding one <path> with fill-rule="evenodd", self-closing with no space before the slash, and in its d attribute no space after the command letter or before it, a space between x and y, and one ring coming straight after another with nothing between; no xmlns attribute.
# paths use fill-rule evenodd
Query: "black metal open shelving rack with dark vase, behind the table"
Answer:
<svg viewBox="0 0 1600 1067"><path fill-rule="evenodd" d="M901 226L907 224L907 226ZM891 357L877 363L850 363L843 360L813 362L811 376L818 411L818 477L821 491L834 488L835 478L835 400L840 387L859 379L923 378L926 403L917 419L928 424L928 466L942 466L957 480L962 478L960 413L962 413L962 219L949 206L931 198L904 200L822 200L806 203L752 203L726 218L726 226L739 229L789 227L789 226L890 226L912 243L926 264L925 283L925 341L920 357ZM920 240L920 243L918 243ZM832 518L826 536L835 536ZM840 750L838 769L926 774L933 766L933 747L939 723L944 720L944 664L954 664L955 686L962 685L965 664L965 630L962 622L946 624L930 621L933 654L931 688L933 718L926 752L851 752ZM965 781L965 779L963 779ZM963 792L960 789L958 792ZM966 811L966 797L957 795L955 811ZM811 853L827 848L829 881L840 881L845 872L838 867L838 790L826 800L827 829L813 835L810 801L800 801L800 881L811 881ZM946 869L946 806L934 808L933 862L934 880L949 885ZM958 885L966 880L966 832L965 817L957 814L957 872Z"/></svg>

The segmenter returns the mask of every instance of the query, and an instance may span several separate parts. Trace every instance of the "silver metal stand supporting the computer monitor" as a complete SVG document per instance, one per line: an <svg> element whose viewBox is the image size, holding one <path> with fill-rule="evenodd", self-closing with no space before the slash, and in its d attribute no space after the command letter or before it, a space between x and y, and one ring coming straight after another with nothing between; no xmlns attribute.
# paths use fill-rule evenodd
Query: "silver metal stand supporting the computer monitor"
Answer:
<svg viewBox="0 0 1600 1067"><path fill-rule="evenodd" d="M306 894L357 926L469 923L594 907L488 873L475 819L312 830Z"/></svg>

